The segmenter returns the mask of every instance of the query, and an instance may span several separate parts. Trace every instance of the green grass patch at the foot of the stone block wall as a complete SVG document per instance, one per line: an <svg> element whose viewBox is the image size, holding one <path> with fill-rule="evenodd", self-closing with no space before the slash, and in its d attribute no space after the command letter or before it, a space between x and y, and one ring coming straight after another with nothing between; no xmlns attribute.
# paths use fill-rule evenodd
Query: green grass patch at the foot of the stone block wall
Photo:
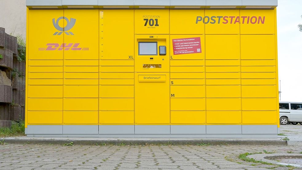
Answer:
<svg viewBox="0 0 302 170"><path fill-rule="evenodd" d="M10 128L0 128L0 137L25 136L24 121L12 123Z"/></svg>

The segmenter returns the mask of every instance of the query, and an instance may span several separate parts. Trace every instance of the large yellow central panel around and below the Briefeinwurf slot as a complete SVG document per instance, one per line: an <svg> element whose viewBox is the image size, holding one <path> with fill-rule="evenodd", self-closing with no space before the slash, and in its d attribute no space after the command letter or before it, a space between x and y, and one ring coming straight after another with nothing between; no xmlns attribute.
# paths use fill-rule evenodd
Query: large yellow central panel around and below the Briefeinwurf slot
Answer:
<svg viewBox="0 0 302 170"><path fill-rule="evenodd" d="M157 75L158 73L146 73ZM165 74L169 77L169 73ZM135 73L135 77L142 73ZM135 79L135 123L167 124L170 123L170 82L144 82ZM150 109L150 107L152 109Z"/></svg>

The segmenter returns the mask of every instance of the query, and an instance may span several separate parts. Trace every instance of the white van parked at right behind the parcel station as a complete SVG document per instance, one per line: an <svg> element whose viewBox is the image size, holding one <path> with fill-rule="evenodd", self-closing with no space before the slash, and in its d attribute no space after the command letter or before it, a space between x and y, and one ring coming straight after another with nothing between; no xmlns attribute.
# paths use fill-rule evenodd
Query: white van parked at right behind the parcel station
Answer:
<svg viewBox="0 0 302 170"><path fill-rule="evenodd" d="M302 125L302 103L279 102L280 125Z"/></svg>

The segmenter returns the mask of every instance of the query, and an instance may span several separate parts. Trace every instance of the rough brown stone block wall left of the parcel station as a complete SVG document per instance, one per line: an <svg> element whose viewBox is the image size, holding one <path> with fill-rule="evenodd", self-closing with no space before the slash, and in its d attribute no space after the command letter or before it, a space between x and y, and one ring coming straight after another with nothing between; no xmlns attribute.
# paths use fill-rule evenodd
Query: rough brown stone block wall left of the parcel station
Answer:
<svg viewBox="0 0 302 170"><path fill-rule="evenodd" d="M18 60L17 38L0 28L0 127L25 118L25 61Z"/></svg>

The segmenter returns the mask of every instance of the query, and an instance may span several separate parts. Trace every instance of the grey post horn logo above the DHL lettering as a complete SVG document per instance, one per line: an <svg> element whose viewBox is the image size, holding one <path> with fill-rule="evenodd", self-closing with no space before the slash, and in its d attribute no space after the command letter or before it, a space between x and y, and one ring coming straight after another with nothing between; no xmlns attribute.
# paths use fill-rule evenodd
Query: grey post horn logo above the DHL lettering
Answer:
<svg viewBox="0 0 302 170"><path fill-rule="evenodd" d="M67 22L65 27L59 26L59 21L60 21L61 19L65 19L65 21ZM53 26L54 26L57 30L61 31L61 32L55 32L53 35L61 35L63 32L64 32L66 35L74 35L72 32L67 32L67 31L69 31L70 29L72 29L75 23L76 23L76 19L74 19L74 18L70 18L70 21L69 21L69 19L66 18L66 17L59 17L59 18L57 19L57 21L55 21L55 18L53 18Z"/></svg>

